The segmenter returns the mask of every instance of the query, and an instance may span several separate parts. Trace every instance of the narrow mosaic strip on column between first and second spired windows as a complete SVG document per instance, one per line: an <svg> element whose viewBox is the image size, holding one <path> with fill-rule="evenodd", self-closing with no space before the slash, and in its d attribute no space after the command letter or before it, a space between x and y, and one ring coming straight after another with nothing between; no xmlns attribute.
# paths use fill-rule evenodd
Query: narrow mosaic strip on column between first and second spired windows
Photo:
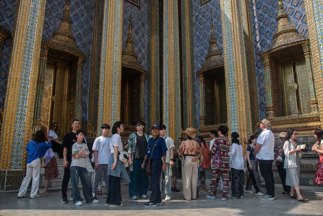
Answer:
<svg viewBox="0 0 323 216"><path fill-rule="evenodd" d="M105 0L104 4L104 18L103 18L103 31L102 31L102 52L101 52L101 69L100 69L100 85L99 85L99 111L98 111L98 136L101 135L101 125L102 122L102 115L103 115L103 98L104 98L104 78L105 78L105 64L106 64L106 52L107 49L107 35L108 35L108 8L109 8L109 0ZM113 124L112 124L113 125ZM112 126L111 125L111 126Z"/></svg>

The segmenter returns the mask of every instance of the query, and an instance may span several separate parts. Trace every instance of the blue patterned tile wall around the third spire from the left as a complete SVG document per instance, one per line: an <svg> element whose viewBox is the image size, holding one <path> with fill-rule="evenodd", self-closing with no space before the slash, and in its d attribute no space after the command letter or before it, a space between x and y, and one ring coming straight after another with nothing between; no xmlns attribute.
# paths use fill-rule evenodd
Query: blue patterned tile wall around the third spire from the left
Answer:
<svg viewBox="0 0 323 216"><path fill-rule="evenodd" d="M220 0L211 0L201 6L200 0L193 0L193 34L194 34L194 65L195 74L201 69L209 49L211 36L211 12L213 12L214 34L217 37L217 45L223 52L222 21ZM200 85L195 76L196 94L196 127L200 125Z"/></svg>

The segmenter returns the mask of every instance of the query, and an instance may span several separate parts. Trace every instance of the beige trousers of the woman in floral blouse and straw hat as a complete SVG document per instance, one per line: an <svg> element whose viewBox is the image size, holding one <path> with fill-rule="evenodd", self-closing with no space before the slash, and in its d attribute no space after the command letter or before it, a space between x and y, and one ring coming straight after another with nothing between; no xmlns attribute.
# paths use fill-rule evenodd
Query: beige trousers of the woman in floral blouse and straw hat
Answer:
<svg viewBox="0 0 323 216"><path fill-rule="evenodd" d="M182 167L183 195L185 200L196 199L198 179L197 161L192 162L193 156L186 156Z"/></svg>

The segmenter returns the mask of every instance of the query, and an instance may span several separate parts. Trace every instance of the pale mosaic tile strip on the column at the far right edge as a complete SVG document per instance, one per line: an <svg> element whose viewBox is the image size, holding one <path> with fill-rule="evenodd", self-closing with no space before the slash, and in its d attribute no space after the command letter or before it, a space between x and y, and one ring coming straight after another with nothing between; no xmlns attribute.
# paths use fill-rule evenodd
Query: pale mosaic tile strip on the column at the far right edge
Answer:
<svg viewBox="0 0 323 216"><path fill-rule="evenodd" d="M318 49L321 59L321 70L323 72L323 2L316 0L312 1L313 4L313 13L316 26L316 34L318 36Z"/></svg>

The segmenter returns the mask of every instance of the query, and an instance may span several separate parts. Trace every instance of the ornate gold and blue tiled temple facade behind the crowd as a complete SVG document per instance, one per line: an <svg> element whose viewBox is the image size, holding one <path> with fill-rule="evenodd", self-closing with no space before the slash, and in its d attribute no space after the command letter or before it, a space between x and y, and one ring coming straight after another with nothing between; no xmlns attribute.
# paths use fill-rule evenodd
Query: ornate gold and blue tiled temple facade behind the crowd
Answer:
<svg viewBox="0 0 323 216"><path fill-rule="evenodd" d="M222 124L248 139L267 118L314 144L322 17L319 0L0 1L0 190L19 188L32 134L56 122L62 140L73 119L89 141L115 121L127 139L142 120L176 142ZM317 158L303 154L302 185Z"/></svg>

